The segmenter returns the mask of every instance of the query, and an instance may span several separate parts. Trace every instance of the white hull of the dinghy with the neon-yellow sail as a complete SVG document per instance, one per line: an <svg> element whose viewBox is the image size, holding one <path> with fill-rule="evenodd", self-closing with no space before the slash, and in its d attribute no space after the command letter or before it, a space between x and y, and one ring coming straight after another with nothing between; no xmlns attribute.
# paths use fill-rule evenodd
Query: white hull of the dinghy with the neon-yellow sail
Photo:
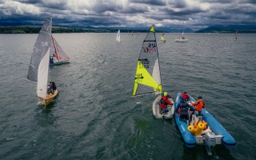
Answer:
<svg viewBox="0 0 256 160"><path fill-rule="evenodd" d="M160 113L160 99L161 99L161 95L159 95L157 98L155 98L154 102L153 102L153 106L152 106L152 111L154 114L155 118L172 118L174 116L174 101L173 99L169 98L170 102L173 103L172 106L168 105L168 112L161 114Z"/></svg>

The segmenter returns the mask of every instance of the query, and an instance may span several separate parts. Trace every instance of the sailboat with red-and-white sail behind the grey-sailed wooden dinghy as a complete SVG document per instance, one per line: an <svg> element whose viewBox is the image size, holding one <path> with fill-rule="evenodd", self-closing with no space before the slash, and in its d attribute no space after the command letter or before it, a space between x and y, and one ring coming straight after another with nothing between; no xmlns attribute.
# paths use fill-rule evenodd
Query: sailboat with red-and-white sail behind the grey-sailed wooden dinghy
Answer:
<svg viewBox="0 0 256 160"><path fill-rule="evenodd" d="M62 47L51 35L51 47L50 47L50 66L60 65L70 62L70 58L65 54Z"/></svg>

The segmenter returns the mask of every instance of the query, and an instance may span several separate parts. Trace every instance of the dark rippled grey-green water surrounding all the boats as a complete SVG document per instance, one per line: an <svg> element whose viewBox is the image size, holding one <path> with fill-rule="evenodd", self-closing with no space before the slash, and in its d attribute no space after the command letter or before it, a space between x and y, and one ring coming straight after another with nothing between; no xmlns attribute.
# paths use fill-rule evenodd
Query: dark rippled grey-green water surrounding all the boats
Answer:
<svg viewBox="0 0 256 160"><path fill-rule="evenodd" d="M160 38L161 34L157 34ZM236 148L189 149L174 119L155 119L154 95L132 98L142 40L121 34L54 34L70 64L50 67L59 90L38 105L26 78L38 34L0 35L1 159L255 159L256 34L166 34L158 42L162 86L202 95Z"/></svg>

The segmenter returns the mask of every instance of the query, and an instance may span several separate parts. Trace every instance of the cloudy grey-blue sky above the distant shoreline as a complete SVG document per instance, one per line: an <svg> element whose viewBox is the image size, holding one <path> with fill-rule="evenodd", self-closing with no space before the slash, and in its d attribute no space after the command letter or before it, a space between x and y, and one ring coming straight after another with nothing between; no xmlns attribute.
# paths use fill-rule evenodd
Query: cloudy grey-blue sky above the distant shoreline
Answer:
<svg viewBox="0 0 256 160"><path fill-rule="evenodd" d="M256 24L256 0L0 0L0 26L110 26L193 30Z"/></svg>

